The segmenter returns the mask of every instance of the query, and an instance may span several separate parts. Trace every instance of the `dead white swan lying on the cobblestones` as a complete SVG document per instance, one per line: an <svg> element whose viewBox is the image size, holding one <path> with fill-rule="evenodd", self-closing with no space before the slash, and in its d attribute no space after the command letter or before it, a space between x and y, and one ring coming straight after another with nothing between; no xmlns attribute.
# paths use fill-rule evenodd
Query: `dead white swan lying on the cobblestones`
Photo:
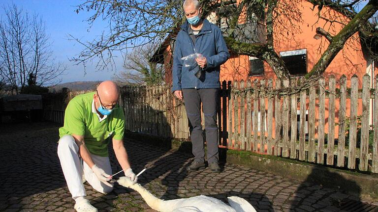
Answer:
<svg viewBox="0 0 378 212"><path fill-rule="evenodd" d="M142 185L133 185L133 182L128 177L121 177L117 182L120 185L138 191L146 203L159 212L256 212L249 202L237 196L227 197L231 207L219 199L204 195L175 200L161 200Z"/></svg>

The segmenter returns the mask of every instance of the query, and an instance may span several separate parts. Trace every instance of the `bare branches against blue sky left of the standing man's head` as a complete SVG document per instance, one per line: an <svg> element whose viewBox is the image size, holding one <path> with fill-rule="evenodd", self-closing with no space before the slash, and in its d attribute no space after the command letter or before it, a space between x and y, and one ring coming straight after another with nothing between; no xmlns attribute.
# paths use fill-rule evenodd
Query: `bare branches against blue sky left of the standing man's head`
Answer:
<svg viewBox="0 0 378 212"><path fill-rule="evenodd" d="M177 0L86 0L76 12L95 11L88 18L92 24L97 19L108 23L108 31L92 41L83 41L71 35L72 40L83 45L84 50L71 58L86 67L87 61L96 63L98 70L113 69L113 51L128 50L146 44L159 44L168 33L174 32L182 20L181 2Z"/></svg>

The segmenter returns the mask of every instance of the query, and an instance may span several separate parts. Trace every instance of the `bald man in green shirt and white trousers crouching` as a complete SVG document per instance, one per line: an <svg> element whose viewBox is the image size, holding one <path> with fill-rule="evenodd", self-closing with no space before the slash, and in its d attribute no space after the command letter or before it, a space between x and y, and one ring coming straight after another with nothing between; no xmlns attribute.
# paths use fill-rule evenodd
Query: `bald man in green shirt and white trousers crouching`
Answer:
<svg viewBox="0 0 378 212"><path fill-rule="evenodd" d="M137 177L130 168L124 147L125 115L118 104L119 88L112 81L103 81L96 92L74 97L67 105L64 125L59 129L58 156L69 192L76 201L77 212L97 212L85 198L85 180L95 190L113 190L112 168L108 156L108 139L125 176L134 183Z"/></svg>

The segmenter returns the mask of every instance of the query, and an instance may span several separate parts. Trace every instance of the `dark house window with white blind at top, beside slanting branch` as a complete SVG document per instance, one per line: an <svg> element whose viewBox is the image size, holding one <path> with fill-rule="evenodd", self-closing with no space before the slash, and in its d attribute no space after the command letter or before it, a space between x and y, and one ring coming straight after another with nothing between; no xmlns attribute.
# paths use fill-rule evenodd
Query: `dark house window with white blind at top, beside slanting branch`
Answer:
<svg viewBox="0 0 378 212"><path fill-rule="evenodd" d="M290 75L303 76L307 74L307 50L280 52Z"/></svg>

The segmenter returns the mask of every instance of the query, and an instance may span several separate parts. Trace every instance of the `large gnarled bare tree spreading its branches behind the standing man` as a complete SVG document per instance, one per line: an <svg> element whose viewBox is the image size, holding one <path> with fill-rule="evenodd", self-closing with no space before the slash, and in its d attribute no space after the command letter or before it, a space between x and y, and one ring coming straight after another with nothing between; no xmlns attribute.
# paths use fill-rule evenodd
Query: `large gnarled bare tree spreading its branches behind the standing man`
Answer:
<svg viewBox="0 0 378 212"><path fill-rule="evenodd" d="M357 6L363 0L240 0L238 4L236 0L202 0L201 5L205 16L217 12L230 50L266 61L278 78L287 79L288 69L275 47L282 39L291 39L293 33L301 33L299 24L303 19L298 5L306 1L318 10L318 19L330 26L316 29L323 49L319 47L321 56L306 77L322 75L348 39L360 38L376 57L378 29L368 20L377 12L378 0L369 0L361 10ZM161 43L168 35L174 37L184 21L182 1L175 0L87 0L78 6L77 12L82 10L95 11L88 19L90 23L102 17L109 27L98 40L76 39L85 46L73 58L77 63L99 57L98 64L106 66L112 61L113 50ZM342 26L341 30L334 30L336 24Z"/></svg>

